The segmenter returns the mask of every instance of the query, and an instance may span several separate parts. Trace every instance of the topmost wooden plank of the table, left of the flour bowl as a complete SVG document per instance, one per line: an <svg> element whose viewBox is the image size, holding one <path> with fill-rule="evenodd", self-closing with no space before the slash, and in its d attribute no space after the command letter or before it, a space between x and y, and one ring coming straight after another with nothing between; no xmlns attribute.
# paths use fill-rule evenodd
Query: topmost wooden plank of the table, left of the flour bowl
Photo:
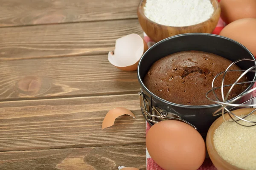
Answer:
<svg viewBox="0 0 256 170"><path fill-rule="evenodd" d="M137 18L140 0L1 0L0 27Z"/></svg>

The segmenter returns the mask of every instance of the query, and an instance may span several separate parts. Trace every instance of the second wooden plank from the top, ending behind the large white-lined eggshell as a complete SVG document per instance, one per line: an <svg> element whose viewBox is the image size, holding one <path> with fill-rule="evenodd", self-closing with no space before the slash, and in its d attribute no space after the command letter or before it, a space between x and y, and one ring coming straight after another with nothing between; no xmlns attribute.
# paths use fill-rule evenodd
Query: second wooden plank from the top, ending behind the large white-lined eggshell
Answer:
<svg viewBox="0 0 256 170"><path fill-rule="evenodd" d="M0 60L107 54L131 33L143 33L137 19L0 28Z"/></svg>

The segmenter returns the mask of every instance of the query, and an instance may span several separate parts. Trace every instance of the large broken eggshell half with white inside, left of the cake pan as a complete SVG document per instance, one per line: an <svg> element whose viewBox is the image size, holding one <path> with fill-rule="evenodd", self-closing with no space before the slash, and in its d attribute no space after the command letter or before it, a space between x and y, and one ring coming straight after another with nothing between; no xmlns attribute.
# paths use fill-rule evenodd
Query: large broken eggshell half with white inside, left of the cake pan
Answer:
<svg viewBox="0 0 256 170"><path fill-rule="evenodd" d="M128 34L116 40L113 51L108 52L108 61L123 71L137 70L138 63L148 45L138 34Z"/></svg>

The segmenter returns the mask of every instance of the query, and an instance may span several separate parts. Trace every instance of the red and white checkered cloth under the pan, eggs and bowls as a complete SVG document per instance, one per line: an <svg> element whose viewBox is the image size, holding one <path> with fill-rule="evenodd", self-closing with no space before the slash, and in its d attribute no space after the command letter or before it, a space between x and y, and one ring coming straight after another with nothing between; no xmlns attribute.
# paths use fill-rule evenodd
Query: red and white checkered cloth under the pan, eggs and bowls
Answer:
<svg viewBox="0 0 256 170"><path fill-rule="evenodd" d="M218 0L220 1L220 0ZM218 24L215 28L215 30L212 32L212 34L219 34L221 32L221 30L226 26L226 24L223 22L223 20L220 18L220 20L218 21ZM145 42L147 42L148 47L151 47L152 45L155 44L155 42L151 41L150 38L144 33L144 40ZM254 87L256 87L256 84L254 85ZM253 91L253 96L256 96L256 91ZM148 132L150 128L150 125L148 124L148 122L146 122L146 134ZM157 165L154 160L150 157L150 155L148 154L148 151L146 150L146 159L147 159L147 170L164 170L163 168L161 168L159 165ZM202 164L202 166L198 169L198 170L217 170L214 165L212 164L212 161L207 157L204 160L204 163Z"/></svg>

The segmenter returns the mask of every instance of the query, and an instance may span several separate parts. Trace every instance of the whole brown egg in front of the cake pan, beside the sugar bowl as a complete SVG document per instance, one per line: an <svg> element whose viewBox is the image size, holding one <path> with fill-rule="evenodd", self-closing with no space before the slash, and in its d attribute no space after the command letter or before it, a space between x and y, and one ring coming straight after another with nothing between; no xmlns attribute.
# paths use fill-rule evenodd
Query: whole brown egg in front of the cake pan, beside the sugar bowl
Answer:
<svg viewBox="0 0 256 170"><path fill-rule="evenodd" d="M151 158L165 170L197 170L205 159L200 133L176 120L153 125L146 136L146 147Z"/></svg>

